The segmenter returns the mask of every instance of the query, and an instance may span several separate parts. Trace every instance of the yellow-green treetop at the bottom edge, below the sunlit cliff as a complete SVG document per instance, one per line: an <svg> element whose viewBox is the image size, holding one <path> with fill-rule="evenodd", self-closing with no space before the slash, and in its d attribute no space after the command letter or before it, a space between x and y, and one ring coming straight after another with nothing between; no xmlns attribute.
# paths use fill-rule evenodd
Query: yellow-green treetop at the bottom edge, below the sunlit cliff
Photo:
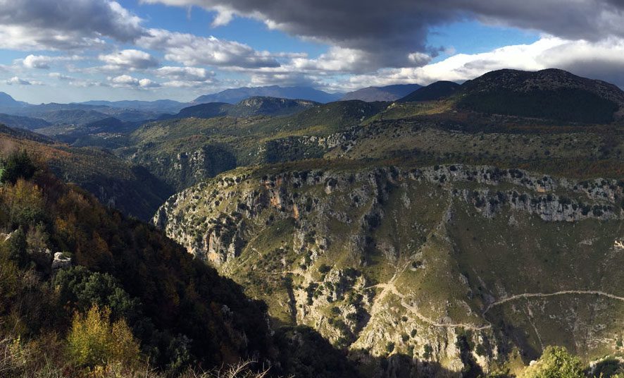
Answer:
<svg viewBox="0 0 624 378"><path fill-rule="evenodd" d="M582 364L561 346L547 346L539 360L518 374L518 378L583 378Z"/></svg>

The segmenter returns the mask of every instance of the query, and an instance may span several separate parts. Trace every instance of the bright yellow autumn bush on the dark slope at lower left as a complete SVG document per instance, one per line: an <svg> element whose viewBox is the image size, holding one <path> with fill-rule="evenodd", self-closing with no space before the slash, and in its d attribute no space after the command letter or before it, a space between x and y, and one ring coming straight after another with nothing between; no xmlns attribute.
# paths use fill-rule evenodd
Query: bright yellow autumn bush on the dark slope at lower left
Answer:
<svg viewBox="0 0 624 378"><path fill-rule="evenodd" d="M68 355L78 367L95 367L111 362L124 366L139 361L139 343L124 319L111 324L111 310L93 305L87 314L75 314L67 336Z"/></svg>

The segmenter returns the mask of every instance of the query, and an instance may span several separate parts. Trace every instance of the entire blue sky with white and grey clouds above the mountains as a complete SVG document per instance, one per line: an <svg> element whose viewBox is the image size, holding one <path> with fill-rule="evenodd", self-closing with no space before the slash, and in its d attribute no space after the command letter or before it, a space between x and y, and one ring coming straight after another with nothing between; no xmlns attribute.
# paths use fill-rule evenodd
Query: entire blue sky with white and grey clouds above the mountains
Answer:
<svg viewBox="0 0 624 378"><path fill-rule="evenodd" d="M623 0L0 0L0 91L175 99L562 68L624 87Z"/></svg>

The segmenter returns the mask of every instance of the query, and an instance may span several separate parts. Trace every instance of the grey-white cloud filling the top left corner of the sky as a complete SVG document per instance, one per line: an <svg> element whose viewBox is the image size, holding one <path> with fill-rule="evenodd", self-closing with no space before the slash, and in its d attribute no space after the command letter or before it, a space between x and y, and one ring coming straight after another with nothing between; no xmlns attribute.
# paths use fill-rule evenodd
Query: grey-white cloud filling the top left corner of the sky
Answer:
<svg viewBox="0 0 624 378"><path fill-rule="evenodd" d="M5 49L78 49L145 34L142 20L111 0L0 0L0 9Z"/></svg>

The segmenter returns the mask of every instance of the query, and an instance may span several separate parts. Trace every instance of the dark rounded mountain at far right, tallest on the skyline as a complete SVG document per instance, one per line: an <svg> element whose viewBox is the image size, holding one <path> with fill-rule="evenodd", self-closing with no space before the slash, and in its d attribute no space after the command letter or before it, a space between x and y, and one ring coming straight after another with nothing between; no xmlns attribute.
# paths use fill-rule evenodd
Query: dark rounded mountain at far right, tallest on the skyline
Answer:
<svg viewBox="0 0 624 378"><path fill-rule="evenodd" d="M456 106L488 114L610 123L624 116L624 92L557 69L500 70L461 85Z"/></svg>

